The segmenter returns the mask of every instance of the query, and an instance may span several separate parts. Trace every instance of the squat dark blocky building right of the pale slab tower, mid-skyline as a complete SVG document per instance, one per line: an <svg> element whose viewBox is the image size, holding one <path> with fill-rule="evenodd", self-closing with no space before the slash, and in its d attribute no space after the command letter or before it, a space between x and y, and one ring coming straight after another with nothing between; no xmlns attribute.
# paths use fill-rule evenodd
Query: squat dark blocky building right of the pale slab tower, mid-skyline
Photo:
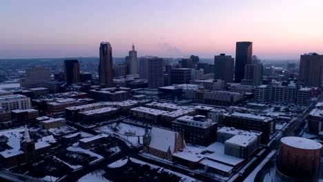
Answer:
<svg viewBox="0 0 323 182"><path fill-rule="evenodd" d="M170 82L172 84L190 83L190 68L174 68L170 70Z"/></svg>

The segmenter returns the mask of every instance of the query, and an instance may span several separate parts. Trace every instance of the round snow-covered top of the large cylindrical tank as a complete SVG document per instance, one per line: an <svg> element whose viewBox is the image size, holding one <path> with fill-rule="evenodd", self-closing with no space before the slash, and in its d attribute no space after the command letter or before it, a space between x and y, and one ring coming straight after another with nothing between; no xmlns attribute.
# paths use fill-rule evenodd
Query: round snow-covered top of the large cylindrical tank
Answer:
<svg viewBox="0 0 323 182"><path fill-rule="evenodd" d="M322 144L317 141L313 141L311 139L305 139L297 136L286 136L280 141L286 145L289 145L293 148L300 148L306 150L315 150L322 148Z"/></svg>

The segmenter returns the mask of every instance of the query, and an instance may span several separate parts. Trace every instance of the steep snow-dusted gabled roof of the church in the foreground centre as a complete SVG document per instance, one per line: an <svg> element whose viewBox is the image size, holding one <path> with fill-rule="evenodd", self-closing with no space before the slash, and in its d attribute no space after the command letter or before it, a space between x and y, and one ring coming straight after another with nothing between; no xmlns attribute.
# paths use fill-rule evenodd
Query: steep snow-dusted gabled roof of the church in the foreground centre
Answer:
<svg viewBox="0 0 323 182"><path fill-rule="evenodd" d="M173 153L175 148L175 133L161 128L153 127L150 131L150 143L149 148L155 148L163 152L168 152L168 148Z"/></svg>

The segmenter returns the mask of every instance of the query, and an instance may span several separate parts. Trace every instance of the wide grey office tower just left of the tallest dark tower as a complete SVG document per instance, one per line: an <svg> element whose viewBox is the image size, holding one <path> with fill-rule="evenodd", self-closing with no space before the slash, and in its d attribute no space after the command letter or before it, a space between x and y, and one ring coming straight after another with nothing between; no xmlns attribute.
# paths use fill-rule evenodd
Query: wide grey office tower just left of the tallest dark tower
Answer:
<svg viewBox="0 0 323 182"><path fill-rule="evenodd" d="M214 57L214 79L222 79L225 83L233 82L233 68L235 59L226 54Z"/></svg>

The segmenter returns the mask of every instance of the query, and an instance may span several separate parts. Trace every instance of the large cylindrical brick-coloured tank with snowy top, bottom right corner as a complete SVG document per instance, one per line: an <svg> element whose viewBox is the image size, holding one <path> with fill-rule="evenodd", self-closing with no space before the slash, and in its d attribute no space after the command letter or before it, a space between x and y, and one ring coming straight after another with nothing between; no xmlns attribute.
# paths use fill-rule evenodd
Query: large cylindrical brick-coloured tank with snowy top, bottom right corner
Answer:
<svg viewBox="0 0 323 182"><path fill-rule="evenodd" d="M321 143L287 136L280 140L277 170L295 181L318 181Z"/></svg>

